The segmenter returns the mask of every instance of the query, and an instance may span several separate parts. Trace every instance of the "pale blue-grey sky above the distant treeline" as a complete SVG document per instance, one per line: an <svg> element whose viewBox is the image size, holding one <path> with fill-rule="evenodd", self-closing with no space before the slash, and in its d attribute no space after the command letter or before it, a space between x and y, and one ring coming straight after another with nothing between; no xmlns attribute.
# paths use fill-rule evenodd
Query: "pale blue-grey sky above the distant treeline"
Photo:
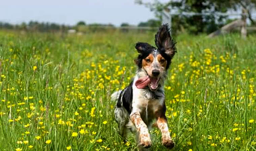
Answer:
<svg viewBox="0 0 256 151"><path fill-rule="evenodd" d="M0 21L13 24L33 20L75 25L82 20L120 26L151 18L155 18L154 12L134 0L1 0L0 4Z"/></svg>

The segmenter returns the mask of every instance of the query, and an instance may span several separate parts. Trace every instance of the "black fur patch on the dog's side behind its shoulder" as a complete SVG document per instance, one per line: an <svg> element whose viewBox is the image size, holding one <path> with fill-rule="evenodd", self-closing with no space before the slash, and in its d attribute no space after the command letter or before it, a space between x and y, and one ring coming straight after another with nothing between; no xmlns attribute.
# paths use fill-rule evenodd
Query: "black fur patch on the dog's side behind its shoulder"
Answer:
<svg viewBox="0 0 256 151"><path fill-rule="evenodd" d="M129 114L132 111L132 84L133 81L124 90L122 90L117 102L117 107L122 107L123 103L124 108L128 111Z"/></svg>

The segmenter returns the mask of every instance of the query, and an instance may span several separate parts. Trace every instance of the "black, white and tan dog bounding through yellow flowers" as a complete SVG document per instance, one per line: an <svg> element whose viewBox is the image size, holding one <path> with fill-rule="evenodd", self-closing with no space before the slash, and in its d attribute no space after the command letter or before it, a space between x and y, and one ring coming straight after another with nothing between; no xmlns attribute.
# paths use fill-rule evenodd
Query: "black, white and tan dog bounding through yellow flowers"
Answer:
<svg viewBox="0 0 256 151"><path fill-rule="evenodd" d="M138 66L133 81L122 91L111 95L118 100L115 107L115 119L119 134L125 139L128 130L137 132L138 145L151 147L152 141L148 128L156 119L156 125L162 133L162 144L174 147L165 116L164 80L167 69L177 52L174 40L170 36L168 24L163 24L155 35L157 48L148 43L137 42L138 57L134 60Z"/></svg>

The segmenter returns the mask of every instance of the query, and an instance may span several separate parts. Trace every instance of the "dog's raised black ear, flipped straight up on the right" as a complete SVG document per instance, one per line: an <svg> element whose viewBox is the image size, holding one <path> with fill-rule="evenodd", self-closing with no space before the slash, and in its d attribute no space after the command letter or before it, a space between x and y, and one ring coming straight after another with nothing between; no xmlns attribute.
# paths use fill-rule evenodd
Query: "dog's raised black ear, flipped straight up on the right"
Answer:
<svg viewBox="0 0 256 151"><path fill-rule="evenodd" d="M171 58L177 52L175 42L170 36L168 24L163 24L155 35L155 43L159 50L164 50Z"/></svg>

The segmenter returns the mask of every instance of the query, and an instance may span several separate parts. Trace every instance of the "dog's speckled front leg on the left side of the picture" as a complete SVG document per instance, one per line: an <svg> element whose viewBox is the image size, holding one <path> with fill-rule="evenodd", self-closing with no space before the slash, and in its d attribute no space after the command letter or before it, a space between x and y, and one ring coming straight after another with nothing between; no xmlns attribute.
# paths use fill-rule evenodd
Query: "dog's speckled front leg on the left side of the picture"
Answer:
<svg viewBox="0 0 256 151"><path fill-rule="evenodd" d="M139 135L139 145L149 148L151 146L149 130L147 125L141 119L140 113L138 111L132 112L130 114L130 119L137 129Z"/></svg>

